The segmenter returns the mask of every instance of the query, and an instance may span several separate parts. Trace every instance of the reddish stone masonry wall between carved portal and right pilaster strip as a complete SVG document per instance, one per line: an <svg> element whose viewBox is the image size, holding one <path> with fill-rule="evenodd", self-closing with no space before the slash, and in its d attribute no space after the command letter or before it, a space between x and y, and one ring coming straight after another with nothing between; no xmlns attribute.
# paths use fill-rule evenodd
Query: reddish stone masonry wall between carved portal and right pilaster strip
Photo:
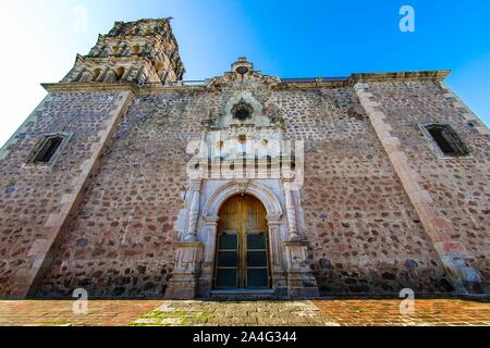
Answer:
<svg viewBox="0 0 490 348"><path fill-rule="evenodd" d="M353 89L286 91L277 103L306 140L303 208L321 293L451 290Z"/></svg>

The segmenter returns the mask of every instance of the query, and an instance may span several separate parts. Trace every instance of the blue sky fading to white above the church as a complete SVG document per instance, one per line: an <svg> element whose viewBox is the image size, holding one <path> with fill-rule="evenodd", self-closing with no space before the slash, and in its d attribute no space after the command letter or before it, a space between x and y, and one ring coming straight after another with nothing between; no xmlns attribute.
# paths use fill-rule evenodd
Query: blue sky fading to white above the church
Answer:
<svg viewBox="0 0 490 348"><path fill-rule="evenodd" d="M399 29L415 9L415 33ZM77 7L87 27L77 29ZM490 124L490 1L19 0L0 2L0 145L115 21L173 16L185 79L221 75L240 55L281 77L450 69L448 84ZM7 67L7 69L5 69Z"/></svg>

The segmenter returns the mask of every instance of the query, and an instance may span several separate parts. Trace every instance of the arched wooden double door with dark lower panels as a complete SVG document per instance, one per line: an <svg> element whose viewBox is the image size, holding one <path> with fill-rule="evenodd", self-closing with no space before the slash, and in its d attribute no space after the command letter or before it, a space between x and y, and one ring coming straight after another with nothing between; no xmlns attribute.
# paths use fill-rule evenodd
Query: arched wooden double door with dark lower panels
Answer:
<svg viewBox="0 0 490 348"><path fill-rule="evenodd" d="M269 228L264 204L234 196L220 209L215 264L216 289L271 287Z"/></svg>

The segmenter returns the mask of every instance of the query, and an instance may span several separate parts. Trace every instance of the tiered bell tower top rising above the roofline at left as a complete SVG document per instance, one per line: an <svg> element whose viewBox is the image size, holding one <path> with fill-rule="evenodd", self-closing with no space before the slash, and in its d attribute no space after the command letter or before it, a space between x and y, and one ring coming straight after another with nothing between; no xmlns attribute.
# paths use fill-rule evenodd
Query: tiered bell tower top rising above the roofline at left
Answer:
<svg viewBox="0 0 490 348"><path fill-rule="evenodd" d="M166 85L185 73L170 18L117 22L62 83Z"/></svg>

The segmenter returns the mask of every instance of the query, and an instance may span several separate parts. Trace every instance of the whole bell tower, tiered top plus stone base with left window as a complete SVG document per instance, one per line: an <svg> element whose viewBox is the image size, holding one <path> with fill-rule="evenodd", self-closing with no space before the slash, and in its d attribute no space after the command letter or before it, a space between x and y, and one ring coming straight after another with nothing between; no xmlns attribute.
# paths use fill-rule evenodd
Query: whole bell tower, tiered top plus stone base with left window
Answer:
<svg viewBox="0 0 490 348"><path fill-rule="evenodd" d="M0 172L0 177L16 183L19 189L21 185L26 190L42 187L40 195L52 199L40 202L24 197L33 207L34 202L39 209L47 207L47 214L39 213L37 222L21 223L28 231L17 229L24 253L2 253L0 297L36 295L134 91L174 85L184 72L170 18L140 20L117 22L109 34L99 35L88 54L77 55L61 82L42 84L49 95L0 149L0 162L19 174L14 178L9 171ZM50 183L57 183L56 188L50 189ZM15 224L3 220L0 231ZM12 236L12 243L19 238ZM2 240L3 246L9 243Z"/></svg>

